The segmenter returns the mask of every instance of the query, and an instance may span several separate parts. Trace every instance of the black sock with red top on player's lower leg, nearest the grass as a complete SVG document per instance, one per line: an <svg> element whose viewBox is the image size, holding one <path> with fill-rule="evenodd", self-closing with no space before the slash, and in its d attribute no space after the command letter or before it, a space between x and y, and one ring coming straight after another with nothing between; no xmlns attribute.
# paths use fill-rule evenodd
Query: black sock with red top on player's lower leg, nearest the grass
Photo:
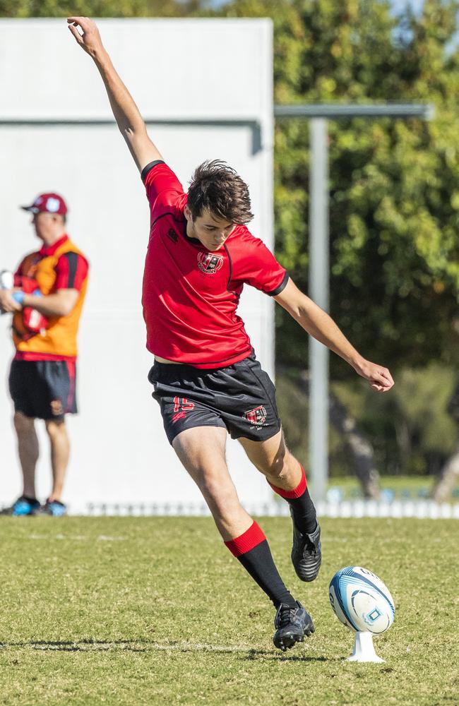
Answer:
<svg viewBox="0 0 459 706"><path fill-rule="evenodd" d="M225 544L258 583L261 590L273 601L276 608L281 603L286 603L292 608L297 607L297 602L280 578L263 530L256 522L240 537L231 539Z"/></svg>

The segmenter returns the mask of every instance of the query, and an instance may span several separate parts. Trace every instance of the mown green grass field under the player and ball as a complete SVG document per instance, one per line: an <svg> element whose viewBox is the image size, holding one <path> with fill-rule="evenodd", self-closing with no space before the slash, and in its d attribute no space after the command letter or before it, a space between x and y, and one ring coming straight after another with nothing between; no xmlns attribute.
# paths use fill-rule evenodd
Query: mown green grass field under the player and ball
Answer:
<svg viewBox="0 0 459 706"><path fill-rule="evenodd" d="M459 704L456 520L323 520L311 585L290 564L290 520L261 525L316 624L285 654L209 518L1 517L0 704ZM345 662L328 582L351 563L395 599L384 664Z"/></svg>

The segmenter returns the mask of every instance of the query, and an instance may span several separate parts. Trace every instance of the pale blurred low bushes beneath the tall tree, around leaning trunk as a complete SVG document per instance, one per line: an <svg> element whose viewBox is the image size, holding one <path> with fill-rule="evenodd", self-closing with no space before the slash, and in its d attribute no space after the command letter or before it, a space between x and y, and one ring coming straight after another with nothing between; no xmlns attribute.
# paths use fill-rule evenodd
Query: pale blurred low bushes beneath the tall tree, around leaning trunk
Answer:
<svg viewBox="0 0 459 706"><path fill-rule="evenodd" d="M448 414L455 373L439 364L403 369L391 395L374 395L363 380L335 381L330 393L345 406L359 432L371 440L374 465L383 474L438 474L458 443L457 423ZM308 396L296 371L276 377L280 416L289 448L308 463ZM330 476L352 474L355 460L330 425Z"/></svg>

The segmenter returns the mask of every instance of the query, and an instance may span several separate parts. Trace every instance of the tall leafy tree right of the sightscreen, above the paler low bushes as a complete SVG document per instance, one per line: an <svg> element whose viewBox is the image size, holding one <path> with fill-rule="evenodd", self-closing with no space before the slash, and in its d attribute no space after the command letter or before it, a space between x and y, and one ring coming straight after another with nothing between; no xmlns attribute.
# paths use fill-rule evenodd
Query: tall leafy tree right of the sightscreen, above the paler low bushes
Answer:
<svg viewBox="0 0 459 706"><path fill-rule="evenodd" d="M371 359L457 361L459 52L457 1L421 16L388 0L234 0L225 16L270 16L275 102L429 102L436 116L330 122L331 313ZM302 287L308 265L309 128L278 120L277 253ZM304 365L302 332L278 312L278 356ZM335 374L347 375L339 361Z"/></svg>

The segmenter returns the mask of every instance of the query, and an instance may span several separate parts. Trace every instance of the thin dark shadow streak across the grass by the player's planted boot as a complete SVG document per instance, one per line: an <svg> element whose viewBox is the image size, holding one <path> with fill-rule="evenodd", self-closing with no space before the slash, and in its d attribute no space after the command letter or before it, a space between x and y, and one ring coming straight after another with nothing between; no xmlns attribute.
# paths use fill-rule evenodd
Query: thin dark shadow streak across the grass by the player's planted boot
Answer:
<svg viewBox="0 0 459 706"><path fill-rule="evenodd" d="M279 650L256 650L245 645L209 645L201 642L156 642L155 640L29 640L28 642L0 642L0 650L22 647L50 652L211 652L234 654L237 659L254 662L258 659L282 662L337 662L340 657L311 654L285 654Z"/></svg>

